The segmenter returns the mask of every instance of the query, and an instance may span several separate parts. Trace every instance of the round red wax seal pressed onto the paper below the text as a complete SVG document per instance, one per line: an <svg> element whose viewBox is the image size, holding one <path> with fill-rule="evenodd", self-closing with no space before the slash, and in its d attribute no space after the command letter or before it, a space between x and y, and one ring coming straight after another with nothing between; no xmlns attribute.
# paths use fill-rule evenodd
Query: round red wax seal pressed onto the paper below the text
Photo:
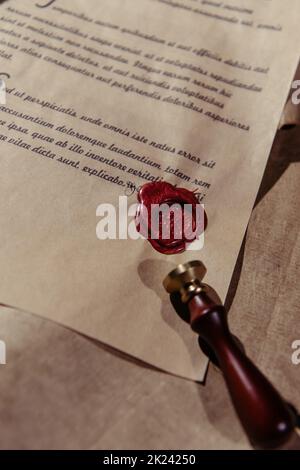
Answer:
<svg viewBox="0 0 300 470"><path fill-rule="evenodd" d="M160 253L182 253L204 231L206 215L194 192L163 181L138 193L136 227Z"/></svg>

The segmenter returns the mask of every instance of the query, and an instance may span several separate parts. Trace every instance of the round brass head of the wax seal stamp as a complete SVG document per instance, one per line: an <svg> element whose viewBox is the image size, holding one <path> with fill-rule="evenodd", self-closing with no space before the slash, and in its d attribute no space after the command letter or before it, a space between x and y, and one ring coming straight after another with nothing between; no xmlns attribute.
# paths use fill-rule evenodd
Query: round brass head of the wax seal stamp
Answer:
<svg viewBox="0 0 300 470"><path fill-rule="evenodd" d="M180 264L171 271L163 281L163 286L169 294L180 292L181 300L187 303L192 296L203 290L202 280L206 267L201 261L190 261Z"/></svg>

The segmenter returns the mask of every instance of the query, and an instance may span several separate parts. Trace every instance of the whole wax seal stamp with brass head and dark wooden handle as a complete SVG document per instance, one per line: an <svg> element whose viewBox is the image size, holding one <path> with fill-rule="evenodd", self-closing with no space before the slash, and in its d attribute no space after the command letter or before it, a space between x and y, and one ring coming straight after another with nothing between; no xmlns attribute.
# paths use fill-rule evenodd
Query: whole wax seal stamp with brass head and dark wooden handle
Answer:
<svg viewBox="0 0 300 470"><path fill-rule="evenodd" d="M283 448L295 439L297 413L240 348L221 299L203 283L205 274L204 264L194 260L177 266L163 285L177 313L214 353L252 445L257 449Z"/></svg>

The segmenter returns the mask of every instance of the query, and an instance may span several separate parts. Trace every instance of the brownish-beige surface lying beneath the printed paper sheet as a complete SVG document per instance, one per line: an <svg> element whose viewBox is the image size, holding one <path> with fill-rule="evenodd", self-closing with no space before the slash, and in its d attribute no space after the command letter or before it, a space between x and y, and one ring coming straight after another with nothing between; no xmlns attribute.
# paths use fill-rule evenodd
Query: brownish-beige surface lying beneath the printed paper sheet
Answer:
<svg viewBox="0 0 300 470"><path fill-rule="evenodd" d="M299 146L299 128L276 138L230 309L250 357L298 408L300 365L291 362L291 344L300 339ZM0 366L2 449L249 448L212 366L198 385L50 321L6 308L0 313L7 343L7 365Z"/></svg>

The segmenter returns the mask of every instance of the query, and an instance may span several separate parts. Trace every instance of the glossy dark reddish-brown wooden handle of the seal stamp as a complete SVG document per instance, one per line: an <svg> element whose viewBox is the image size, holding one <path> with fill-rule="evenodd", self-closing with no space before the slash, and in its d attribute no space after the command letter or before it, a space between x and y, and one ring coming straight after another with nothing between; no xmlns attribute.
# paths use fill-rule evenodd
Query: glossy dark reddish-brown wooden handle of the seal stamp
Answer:
<svg viewBox="0 0 300 470"><path fill-rule="evenodd" d="M214 351L233 405L251 443L260 449L284 445L295 429L295 417L268 379L239 348L230 333L227 313L205 293L189 304L192 329Z"/></svg>

